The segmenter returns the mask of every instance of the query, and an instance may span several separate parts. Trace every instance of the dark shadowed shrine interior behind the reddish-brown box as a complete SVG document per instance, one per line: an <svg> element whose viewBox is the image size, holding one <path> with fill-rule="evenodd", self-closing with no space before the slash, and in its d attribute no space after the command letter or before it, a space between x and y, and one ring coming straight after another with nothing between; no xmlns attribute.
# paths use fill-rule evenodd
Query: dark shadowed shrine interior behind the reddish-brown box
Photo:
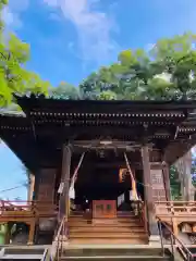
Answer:
<svg viewBox="0 0 196 261"><path fill-rule="evenodd" d="M77 163L73 160L72 174ZM128 203L130 190L132 190L131 176L126 172L122 181L120 177L120 170L125 167L123 151L107 149L87 151L74 186L75 203L79 206L84 201L90 203L93 200L118 200L122 194L125 195L124 202ZM144 198L143 171L134 171L134 175L137 181L138 195Z"/></svg>

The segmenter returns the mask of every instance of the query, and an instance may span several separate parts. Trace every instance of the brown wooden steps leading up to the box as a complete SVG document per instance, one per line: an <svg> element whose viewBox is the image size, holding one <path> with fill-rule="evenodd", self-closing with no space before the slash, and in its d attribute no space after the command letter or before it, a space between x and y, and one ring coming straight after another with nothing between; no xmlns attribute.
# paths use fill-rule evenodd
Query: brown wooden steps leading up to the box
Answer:
<svg viewBox="0 0 196 261"><path fill-rule="evenodd" d="M99 219L91 222L87 215L76 212L69 219L70 244L147 244L144 225L133 212L118 212L115 219Z"/></svg>

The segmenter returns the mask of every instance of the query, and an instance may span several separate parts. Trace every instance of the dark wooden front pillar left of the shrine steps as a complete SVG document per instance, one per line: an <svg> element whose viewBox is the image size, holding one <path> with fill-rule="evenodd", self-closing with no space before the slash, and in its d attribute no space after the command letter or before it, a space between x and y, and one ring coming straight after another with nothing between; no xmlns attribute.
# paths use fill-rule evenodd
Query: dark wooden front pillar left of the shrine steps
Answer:
<svg viewBox="0 0 196 261"><path fill-rule="evenodd" d="M62 172L61 172L61 185L62 191L60 191L59 202L59 219L68 215L69 206L69 189L70 189L70 167L71 167L72 151L70 146L63 147L62 156Z"/></svg>

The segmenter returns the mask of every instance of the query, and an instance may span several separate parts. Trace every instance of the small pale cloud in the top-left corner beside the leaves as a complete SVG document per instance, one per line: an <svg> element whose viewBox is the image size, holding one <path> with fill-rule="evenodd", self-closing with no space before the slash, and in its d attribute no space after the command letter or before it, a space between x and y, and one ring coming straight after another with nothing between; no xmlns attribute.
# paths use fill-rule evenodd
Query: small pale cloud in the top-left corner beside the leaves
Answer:
<svg viewBox="0 0 196 261"><path fill-rule="evenodd" d="M29 0L10 0L9 5L2 10L2 20L8 29L19 29L23 26L21 14L26 11Z"/></svg>

